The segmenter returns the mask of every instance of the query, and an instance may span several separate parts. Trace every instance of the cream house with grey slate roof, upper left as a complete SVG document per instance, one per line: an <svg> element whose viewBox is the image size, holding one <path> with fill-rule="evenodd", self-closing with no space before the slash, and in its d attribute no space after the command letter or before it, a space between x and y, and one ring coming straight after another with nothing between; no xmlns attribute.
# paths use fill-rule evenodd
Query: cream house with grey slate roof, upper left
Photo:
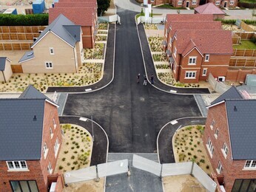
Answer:
<svg viewBox="0 0 256 192"><path fill-rule="evenodd" d="M62 14L55 18L18 61L24 73L78 72L81 66L81 27Z"/></svg>

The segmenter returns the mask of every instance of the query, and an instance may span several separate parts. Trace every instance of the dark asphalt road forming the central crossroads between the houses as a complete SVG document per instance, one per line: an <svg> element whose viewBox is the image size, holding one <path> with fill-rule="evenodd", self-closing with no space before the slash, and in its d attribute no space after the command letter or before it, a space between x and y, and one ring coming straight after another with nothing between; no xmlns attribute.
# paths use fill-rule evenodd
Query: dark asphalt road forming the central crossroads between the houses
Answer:
<svg viewBox="0 0 256 192"><path fill-rule="evenodd" d="M105 89L87 94L70 94L64 114L93 115L110 140L110 152L152 153L158 131L179 117L201 113L192 95L172 95L150 84L136 83L145 73L135 27L135 13L118 9L121 25L116 29L115 77Z"/></svg>

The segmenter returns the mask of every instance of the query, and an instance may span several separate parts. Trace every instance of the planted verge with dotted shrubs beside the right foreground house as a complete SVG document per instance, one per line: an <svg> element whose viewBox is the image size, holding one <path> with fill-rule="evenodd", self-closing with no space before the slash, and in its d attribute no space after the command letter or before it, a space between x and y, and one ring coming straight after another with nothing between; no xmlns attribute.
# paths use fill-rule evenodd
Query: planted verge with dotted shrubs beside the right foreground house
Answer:
<svg viewBox="0 0 256 192"><path fill-rule="evenodd" d="M204 126L185 126L172 137L175 162L195 161L206 174L213 172L206 149L203 146Z"/></svg>

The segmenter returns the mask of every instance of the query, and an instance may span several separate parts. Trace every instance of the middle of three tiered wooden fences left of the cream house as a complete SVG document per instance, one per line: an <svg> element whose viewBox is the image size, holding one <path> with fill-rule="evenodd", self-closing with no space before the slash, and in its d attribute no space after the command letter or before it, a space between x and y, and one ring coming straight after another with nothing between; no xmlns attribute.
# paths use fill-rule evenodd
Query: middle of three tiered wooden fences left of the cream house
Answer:
<svg viewBox="0 0 256 192"><path fill-rule="evenodd" d="M0 33L0 40L33 40L40 33Z"/></svg>

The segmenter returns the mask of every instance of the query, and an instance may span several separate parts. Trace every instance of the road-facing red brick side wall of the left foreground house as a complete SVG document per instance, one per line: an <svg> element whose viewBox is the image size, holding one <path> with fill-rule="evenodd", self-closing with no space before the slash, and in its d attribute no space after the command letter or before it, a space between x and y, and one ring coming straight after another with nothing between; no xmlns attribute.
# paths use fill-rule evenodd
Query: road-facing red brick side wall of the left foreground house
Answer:
<svg viewBox="0 0 256 192"><path fill-rule="evenodd" d="M55 123L56 123L55 128L54 128L53 119L55 120ZM50 128L52 128L52 131L53 131L53 138L50 135ZM60 144L58 148L58 152L59 152L61 143L62 143L62 137L61 137L61 128L59 126L59 120L58 120L58 109L56 106L53 106L52 104L45 102L44 129L43 129L43 138L41 143L41 162L40 162L41 170L42 170L42 173L44 174L45 185L47 185L47 176L49 175L47 171L47 166L49 165L49 162L52 165L52 168L54 171L57 160L58 160L58 154L55 157L55 151L54 151L54 145L57 137L58 137L58 143ZM44 151L43 151L44 143L47 143L47 148L48 148L48 153L46 158L44 158Z"/></svg>

